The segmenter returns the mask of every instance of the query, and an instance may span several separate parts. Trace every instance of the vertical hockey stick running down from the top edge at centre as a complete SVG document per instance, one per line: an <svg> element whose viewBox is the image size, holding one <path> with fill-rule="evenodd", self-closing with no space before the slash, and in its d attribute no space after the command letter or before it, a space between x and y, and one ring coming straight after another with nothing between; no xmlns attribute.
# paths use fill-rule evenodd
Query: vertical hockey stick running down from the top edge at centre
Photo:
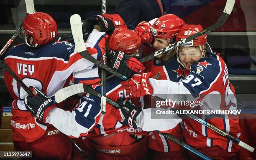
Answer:
<svg viewBox="0 0 256 160"><path fill-rule="evenodd" d="M106 0L102 0L102 14L106 13ZM106 46L104 49L104 53L102 56L103 64L106 65ZM100 79L101 79L101 99L100 99L100 108L101 113L106 113L106 72L105 70L101 70L100 73Z"/></svg>

